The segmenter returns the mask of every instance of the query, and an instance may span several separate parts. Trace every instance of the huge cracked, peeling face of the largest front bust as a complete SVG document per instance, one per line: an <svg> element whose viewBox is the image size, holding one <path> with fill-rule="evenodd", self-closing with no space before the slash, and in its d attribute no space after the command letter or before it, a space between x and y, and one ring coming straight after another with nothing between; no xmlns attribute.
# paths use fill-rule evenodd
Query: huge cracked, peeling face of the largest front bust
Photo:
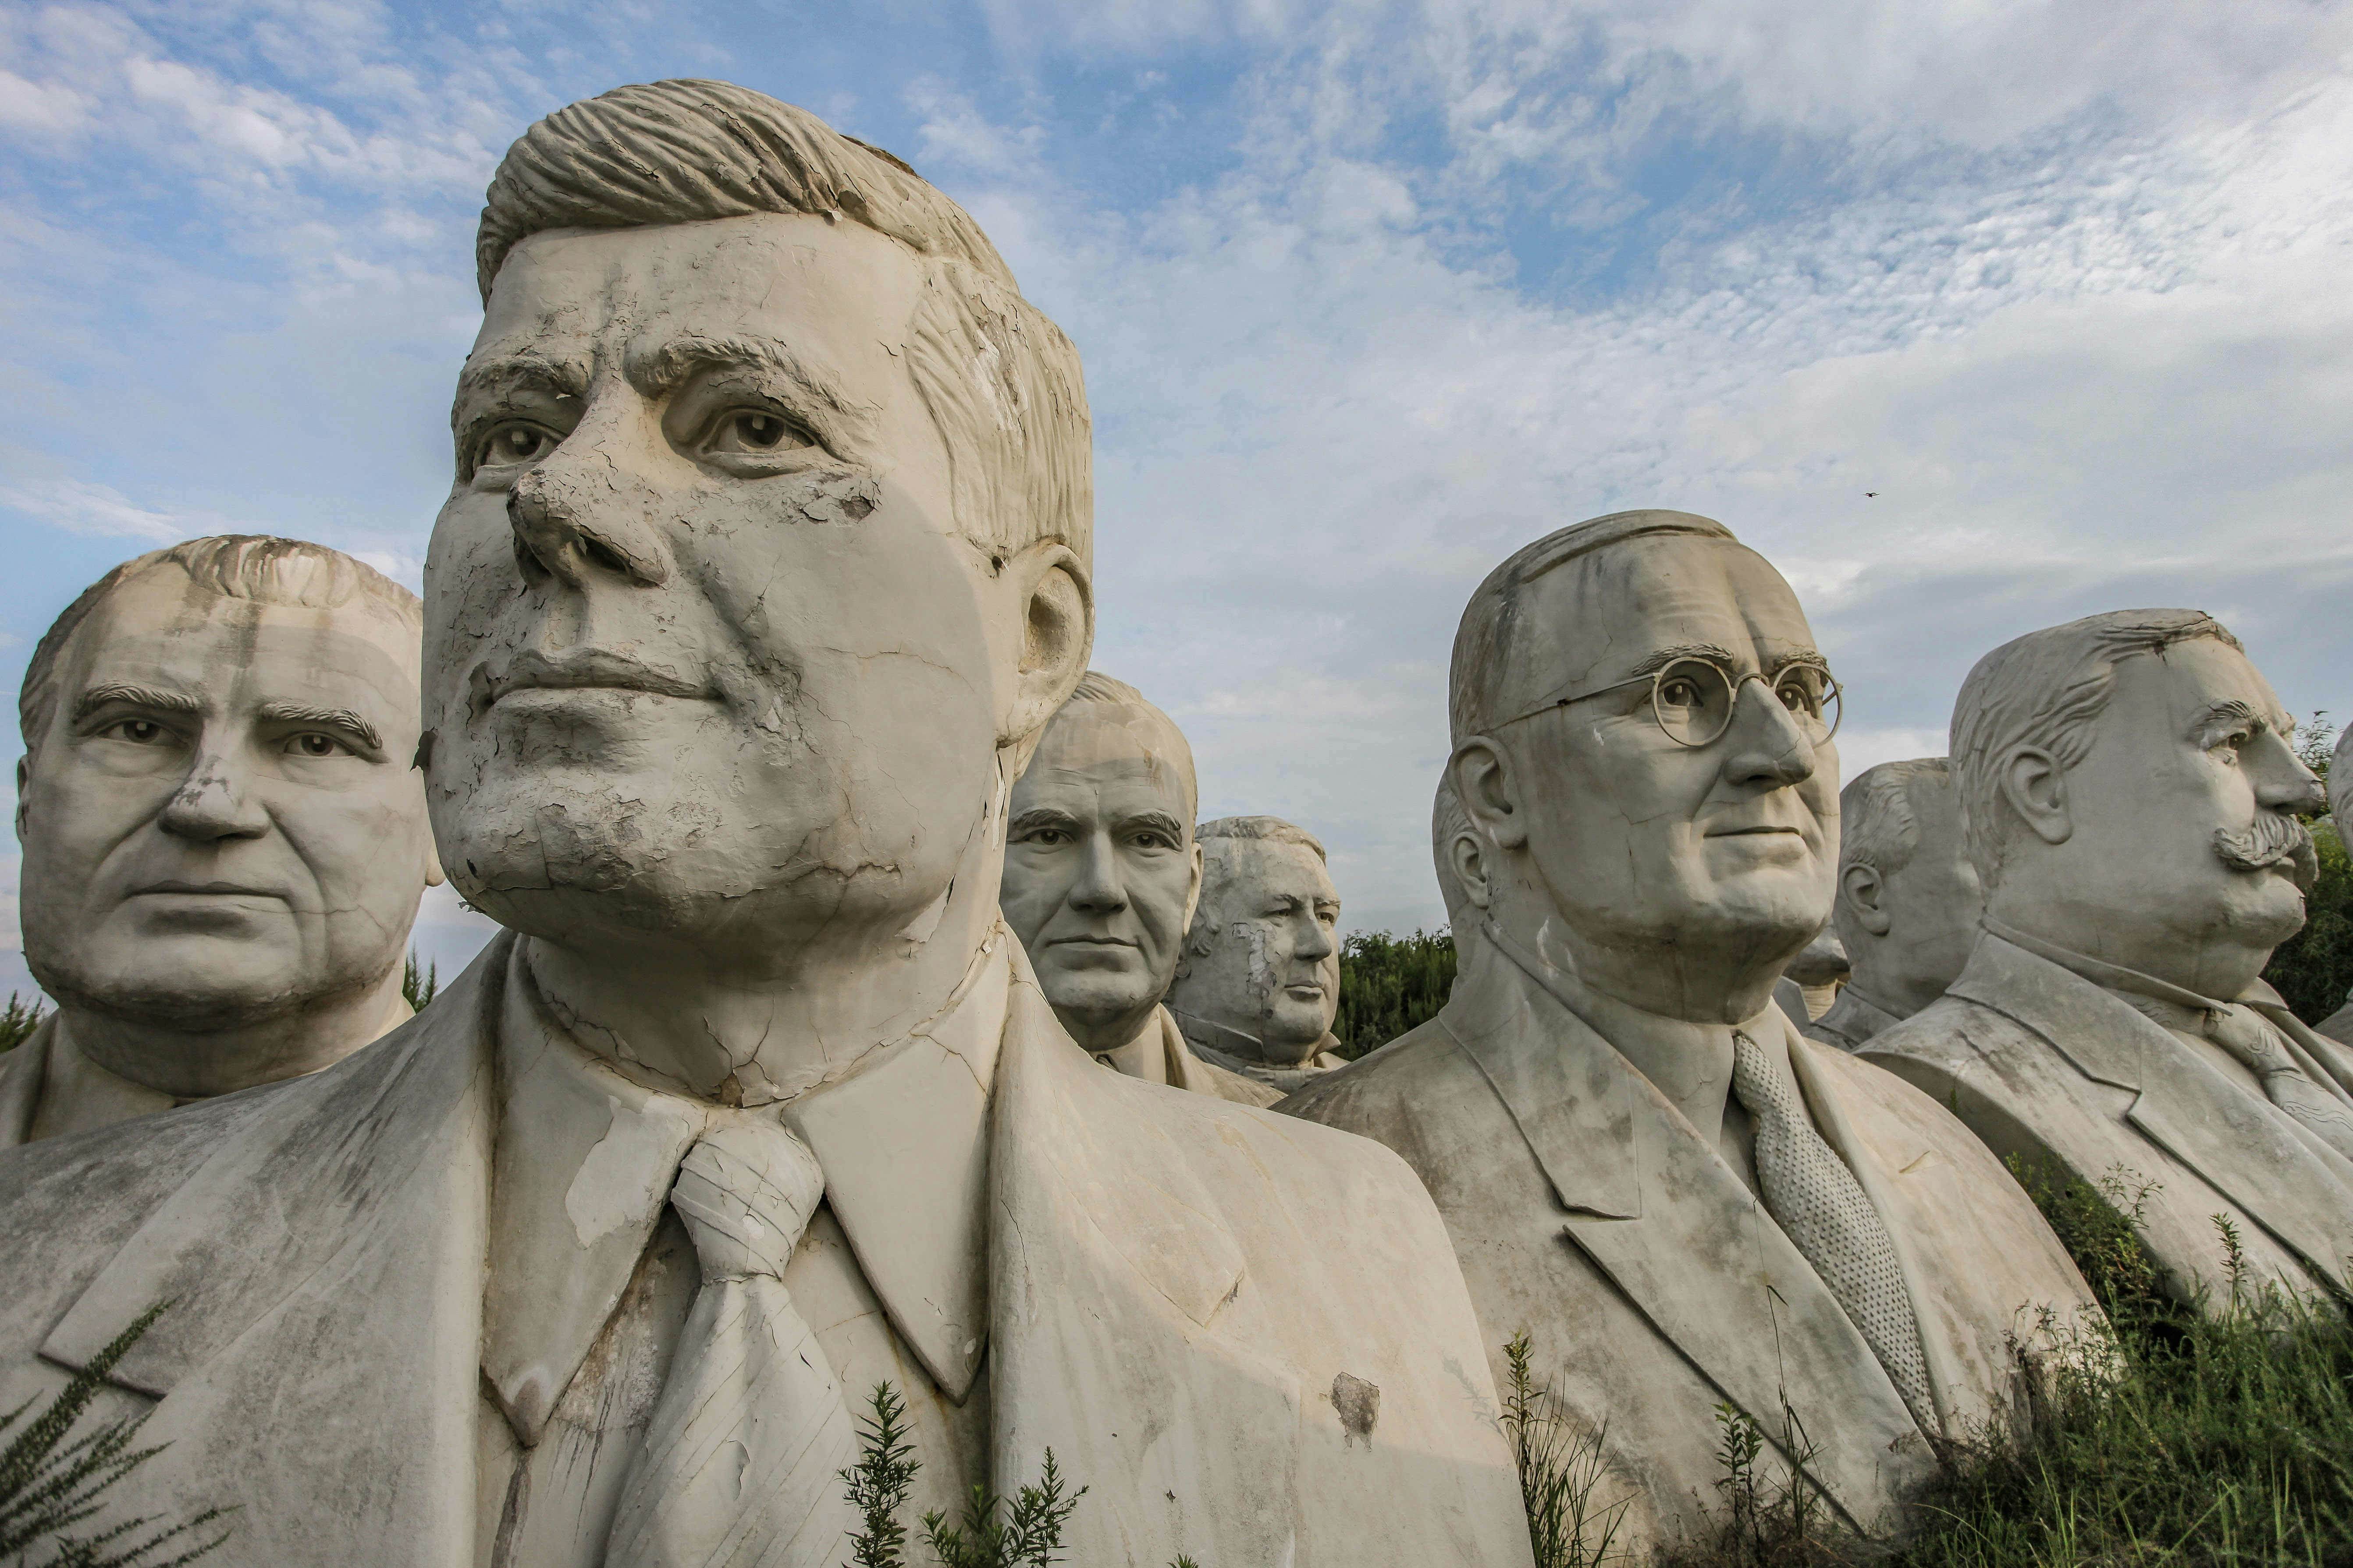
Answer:
<svg viewBox="0 0 2353 1568"><path fill-rule="evenodd" d="M920 289L896 242L798 214L501 268L426 567L433 820L501 924L760 966L946 898L1038 574L953 529Z"/></svg>

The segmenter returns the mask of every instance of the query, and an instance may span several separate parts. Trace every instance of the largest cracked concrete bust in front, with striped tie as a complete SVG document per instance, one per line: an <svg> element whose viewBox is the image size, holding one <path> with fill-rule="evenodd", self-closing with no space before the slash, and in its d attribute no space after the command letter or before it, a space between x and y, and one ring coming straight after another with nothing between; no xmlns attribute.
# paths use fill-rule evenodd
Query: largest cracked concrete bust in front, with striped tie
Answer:
<svg viewBox="0 0 2353 1568"><path fill-rule="evenodd" d="M835 1568L880 1382L915 1509L1052 1450L1073 1561L1527 1563L1412 1173L1101 1072L1000 919L1092 503L972 219L659 82L508 150L480 282L424 752L508 933L329 1072L0 1154L0 1394L186 1302L125 1505L242 1505L224 1563Z"/></svg>

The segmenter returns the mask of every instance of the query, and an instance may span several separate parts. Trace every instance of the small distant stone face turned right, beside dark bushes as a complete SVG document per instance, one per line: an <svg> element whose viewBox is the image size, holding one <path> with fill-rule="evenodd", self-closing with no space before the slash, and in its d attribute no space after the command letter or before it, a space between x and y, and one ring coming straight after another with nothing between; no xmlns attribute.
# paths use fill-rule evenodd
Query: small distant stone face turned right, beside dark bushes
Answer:
<svg viewBox="0 0 2353 1568"><path fill-rule="evenodd" d="M1297 1067L1339 1016L1339 893L1306 844L1219 839L1224 882L1209 952L1186 959L1172 1001L1261 1041Z"/></svg>

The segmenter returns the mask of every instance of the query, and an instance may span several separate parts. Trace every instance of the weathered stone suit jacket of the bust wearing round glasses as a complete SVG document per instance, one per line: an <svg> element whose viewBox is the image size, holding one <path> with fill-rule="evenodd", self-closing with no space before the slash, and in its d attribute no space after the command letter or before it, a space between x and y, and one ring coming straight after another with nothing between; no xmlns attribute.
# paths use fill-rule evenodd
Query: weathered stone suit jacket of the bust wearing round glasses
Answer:
<svg viewBox="0 0 2353 1568"><path fill-rule="evenodd" d="M1774 1023L1769 1009L1760 1027ZM1817 1128L1897 1241L1937 1408L1958 1436L2012 1394L2007 1335L2033 1340L2045 1307L2097 1309L1967 1128L1899 1079L1781 1032ZM1598 1441L1600 1500L1626 1505L1619 1544L1706 1528L1720 1505L1718 1403L1781 1439L1786 1399L1817 1450L1814 1479L1859 1528L1885 1523L1934 1472L1871 1347L1734 1168L1487 943L1438 1018L1282 1110L1381 1138L1421 1173L1497 1378L1501 1345L1525 1331L1534 1371Z"/></svg>

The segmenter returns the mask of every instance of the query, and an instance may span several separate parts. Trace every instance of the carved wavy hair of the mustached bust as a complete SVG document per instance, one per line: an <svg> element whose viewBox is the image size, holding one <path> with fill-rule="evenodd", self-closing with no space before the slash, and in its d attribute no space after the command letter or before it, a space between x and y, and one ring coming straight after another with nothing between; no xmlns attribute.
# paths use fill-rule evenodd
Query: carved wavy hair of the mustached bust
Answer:
<svg viewBox="0 0 2353 1568"><path fill-rule="evenodd" d="M2240 646L2202 609L2111 609L2005 642L1969 670L1953 701L1953 776L1969 863L1988 889L2009 842L2002 771L2021 750L2042 750L2061 769L2092 752L2092 729L2115 696L2115 665L2212 637Z"/></svg>

